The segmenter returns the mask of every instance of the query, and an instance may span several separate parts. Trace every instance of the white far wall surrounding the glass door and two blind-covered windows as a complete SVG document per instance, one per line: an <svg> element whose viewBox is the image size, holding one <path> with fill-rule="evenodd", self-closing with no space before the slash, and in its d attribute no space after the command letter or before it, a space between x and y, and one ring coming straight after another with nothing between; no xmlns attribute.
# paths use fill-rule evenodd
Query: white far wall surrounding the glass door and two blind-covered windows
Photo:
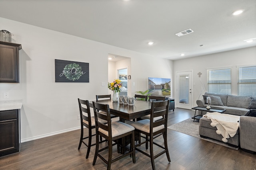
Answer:
<svg viewBox="0 0 256 170"><path fill-rule="evenodd" d="M202 94L207 91L207 69L209 68L221 68L221 67L231 67L232 68L232 94L237 95L237 72L236 66L238 65L248 65L256 64L256 47L250 47L245 49L227 51L223 53L216 53L212 55L204 55L199 57L193 57L189 59L182 59L174 61L173 72L174 79L176 82L176 72L183 70L193 70L192 78L195 86L192 87L192 98L193 104L196 105L196 100L202 98ZM201 72L201 78L198 77L198 72ZM202 83L205 86L204 91L202 91ZM176 83L174 83L174 89L176 89ZM200 95L200 96L199 96ZM176 98L176 91L174 98Z"/></svg>

